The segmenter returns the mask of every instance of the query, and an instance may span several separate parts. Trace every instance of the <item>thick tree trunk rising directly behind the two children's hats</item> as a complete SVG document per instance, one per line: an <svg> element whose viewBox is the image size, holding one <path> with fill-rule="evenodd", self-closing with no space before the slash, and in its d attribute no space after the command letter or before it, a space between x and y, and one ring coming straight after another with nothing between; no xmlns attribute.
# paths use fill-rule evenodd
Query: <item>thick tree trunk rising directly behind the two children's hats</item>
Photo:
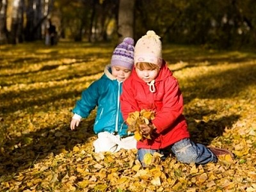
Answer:
<svg viewBox="0 0 256 192"><path fill-rule="evenodd" d="M133 38L135 0L120 0L118 11L118 41L130 36Z"/></svg>

